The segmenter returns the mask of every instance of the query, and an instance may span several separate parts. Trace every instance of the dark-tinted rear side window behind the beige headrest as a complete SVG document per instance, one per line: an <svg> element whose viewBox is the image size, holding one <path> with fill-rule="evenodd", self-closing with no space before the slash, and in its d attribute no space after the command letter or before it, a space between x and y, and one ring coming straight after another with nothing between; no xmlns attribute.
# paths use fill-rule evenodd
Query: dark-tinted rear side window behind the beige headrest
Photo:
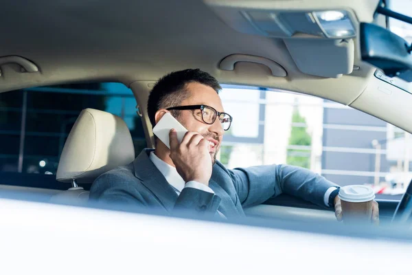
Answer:
<svg viewBox="0 0 412 275"><path fill-rule="evenodd" d="M136 154L146 147L136 100L120 83L82 83L0 93L0 172L55 174L67 136L82 109L124 119Z"/></svg>

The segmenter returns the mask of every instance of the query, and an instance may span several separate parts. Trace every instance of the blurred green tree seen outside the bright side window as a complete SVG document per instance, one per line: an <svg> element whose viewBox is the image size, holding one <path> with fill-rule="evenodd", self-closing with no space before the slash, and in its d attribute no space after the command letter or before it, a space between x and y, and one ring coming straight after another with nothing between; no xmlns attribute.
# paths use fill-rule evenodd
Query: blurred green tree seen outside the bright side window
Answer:
<svg viewBox="0 0 412 275"><path fill-rule="evenodd" d="M297 108L293 111L292 123L306 124L306 120L300 115ZM289 145L310 146L312 137L308 134L307 126L292 127L289 137ZM290 165L310 168L310 152L298 149L288 149L286 162Z"/></svg>

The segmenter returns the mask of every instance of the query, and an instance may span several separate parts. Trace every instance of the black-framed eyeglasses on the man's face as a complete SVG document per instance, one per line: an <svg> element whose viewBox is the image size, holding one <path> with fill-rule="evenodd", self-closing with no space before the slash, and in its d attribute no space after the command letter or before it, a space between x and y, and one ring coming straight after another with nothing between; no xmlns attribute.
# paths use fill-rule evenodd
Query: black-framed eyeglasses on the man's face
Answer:
<svg viewBox="0 0 412 275"><path fill-rule="evenodd" d="M229 130L231 122L233 120L229 113L220 113L216 111L216 109L207 105L177 106L170 107L166 110L199 110L200 112L196 114L201 115L203 122L205 122L206 124L214 124L216 118L219 118L223 130L225 131Z"/></svg>

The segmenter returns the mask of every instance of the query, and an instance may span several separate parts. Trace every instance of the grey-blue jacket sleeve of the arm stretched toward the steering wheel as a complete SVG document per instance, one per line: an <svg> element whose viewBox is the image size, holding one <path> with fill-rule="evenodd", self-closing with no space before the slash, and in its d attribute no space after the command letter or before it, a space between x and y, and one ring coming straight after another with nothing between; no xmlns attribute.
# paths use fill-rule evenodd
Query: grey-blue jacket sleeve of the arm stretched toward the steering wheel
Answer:
<svg viewBox="0 0 412 275"><path fill-rule="evenodd" d="M325 206L326 190L337 186L309 169L284 164L228 171L244 207L263 203L282 193Z"/></svg>

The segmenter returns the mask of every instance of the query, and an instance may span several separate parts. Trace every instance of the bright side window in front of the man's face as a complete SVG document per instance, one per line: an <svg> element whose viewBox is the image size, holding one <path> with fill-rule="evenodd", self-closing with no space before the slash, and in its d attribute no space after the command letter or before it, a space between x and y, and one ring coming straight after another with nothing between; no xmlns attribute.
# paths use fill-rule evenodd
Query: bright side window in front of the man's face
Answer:
<svg viewBox="0 0 412 275"><path fill-rule="evenodd" d="M350 107L301 94L225 86L233 116L219 159L228 168L290 164L345 186L368 184L400 199L412 178L409 133Z"/></svg>

